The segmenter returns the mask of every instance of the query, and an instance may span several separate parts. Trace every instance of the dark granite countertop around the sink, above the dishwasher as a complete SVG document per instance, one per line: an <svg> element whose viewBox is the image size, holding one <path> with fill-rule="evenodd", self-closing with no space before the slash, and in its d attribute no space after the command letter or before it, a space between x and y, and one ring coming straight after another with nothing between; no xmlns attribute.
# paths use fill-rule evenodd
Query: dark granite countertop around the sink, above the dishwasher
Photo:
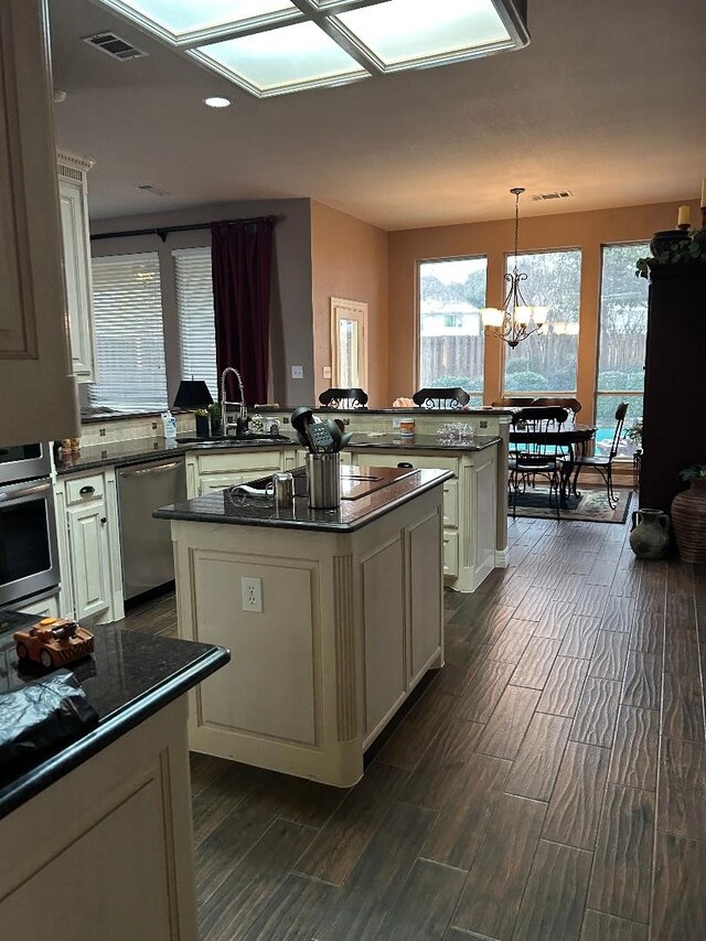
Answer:
<svg viewBox="0 0 706 941"><path fill-rule="evenodd" d="M125 467L126 464L139 464L142 461L159 460L164 457L179 457L193 450L233 450L233 451L263 451L272 448L290 448L295 442L272 441L254 443L252 441L239 441L221 445L216 441L183 441L171 438L132 438L129 441L114 441L105 445L92 445L82 448L81 451L62 455L56 459L56 473L77 473L85 470L96 470L106 467Z"/></svg>

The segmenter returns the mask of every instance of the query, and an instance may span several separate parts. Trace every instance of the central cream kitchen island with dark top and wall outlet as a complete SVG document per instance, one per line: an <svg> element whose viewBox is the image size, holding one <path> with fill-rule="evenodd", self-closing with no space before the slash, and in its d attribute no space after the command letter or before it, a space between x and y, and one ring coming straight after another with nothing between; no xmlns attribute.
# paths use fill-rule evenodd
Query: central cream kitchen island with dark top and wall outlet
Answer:
<svg viewBox="0 0 706 941"><path fill-rule="evenodd" d="M180 635L233 651L192 696L191 747L350 787L365 749L443 663L451 473L341 473L336 510L310 510L297 471L291 510L224 490L156 515L172 521Z"/></svg>

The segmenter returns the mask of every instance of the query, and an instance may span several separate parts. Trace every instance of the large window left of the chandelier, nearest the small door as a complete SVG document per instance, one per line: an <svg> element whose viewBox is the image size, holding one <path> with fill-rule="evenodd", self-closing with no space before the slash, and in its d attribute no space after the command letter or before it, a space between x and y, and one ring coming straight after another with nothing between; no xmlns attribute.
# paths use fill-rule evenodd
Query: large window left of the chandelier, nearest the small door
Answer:
<svg viewBox="0 0 706 941"><path fill-rule="evenodd" d="M486 258L419 264L419 386L460 386L483 404Z"/></svg>

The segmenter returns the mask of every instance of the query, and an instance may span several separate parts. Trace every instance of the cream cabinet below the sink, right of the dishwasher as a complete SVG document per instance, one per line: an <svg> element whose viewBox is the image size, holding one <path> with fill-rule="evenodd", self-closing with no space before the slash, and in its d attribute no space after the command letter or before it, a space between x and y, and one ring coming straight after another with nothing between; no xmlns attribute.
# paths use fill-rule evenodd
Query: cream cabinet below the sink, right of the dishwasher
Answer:
<svg viewBox="0 0 706 941"><path fill-rule="evenodd" d="M291 470L291 448L243 450L195 450L186 453L186 491L189 499L225 490L279 470Z"/></svg>

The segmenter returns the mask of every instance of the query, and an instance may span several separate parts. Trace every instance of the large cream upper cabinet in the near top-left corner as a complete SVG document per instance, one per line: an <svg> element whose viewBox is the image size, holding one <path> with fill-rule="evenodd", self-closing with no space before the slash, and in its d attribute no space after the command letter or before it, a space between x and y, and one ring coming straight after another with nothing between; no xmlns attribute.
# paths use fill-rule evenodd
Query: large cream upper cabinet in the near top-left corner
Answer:
<svg viewBox="0 0 706 941"><path fill-rule="evenodd" d="M79 434L71 366L46 0L0 3L0 442ZM21 407L7 407L21 403Z"/></svg>

